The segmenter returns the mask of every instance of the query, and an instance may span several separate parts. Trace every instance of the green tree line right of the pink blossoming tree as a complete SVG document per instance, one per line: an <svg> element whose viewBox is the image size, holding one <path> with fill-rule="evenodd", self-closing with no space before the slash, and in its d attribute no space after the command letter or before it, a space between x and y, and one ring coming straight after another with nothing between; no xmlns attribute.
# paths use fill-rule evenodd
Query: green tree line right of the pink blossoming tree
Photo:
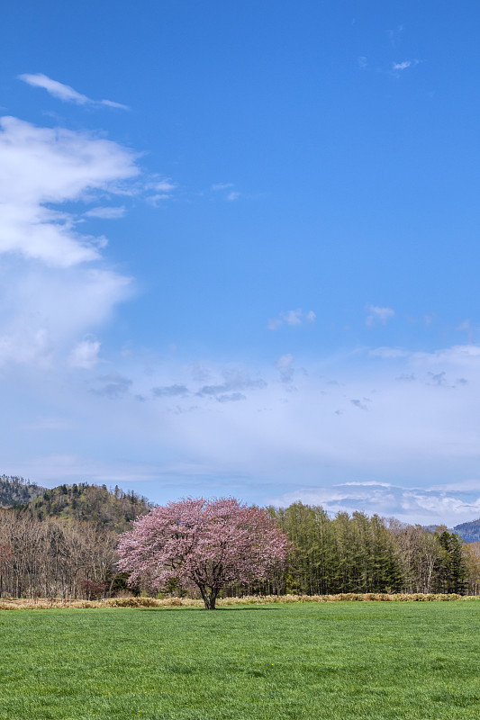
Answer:
<svg viewBox="0 0 480 720"><path fill-rule="evenodd" d="M276 579L281 591L480 592L480 543L466 545L446 527L430 531L363 512L330 518L301 502L268 510L294 544Z"/></svg>

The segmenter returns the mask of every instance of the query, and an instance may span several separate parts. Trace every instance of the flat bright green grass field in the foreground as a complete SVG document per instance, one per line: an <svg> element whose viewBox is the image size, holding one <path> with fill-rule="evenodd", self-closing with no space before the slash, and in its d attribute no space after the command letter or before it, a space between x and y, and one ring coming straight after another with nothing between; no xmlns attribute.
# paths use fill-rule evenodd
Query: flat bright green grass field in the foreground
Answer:
<svg viewBox="0 0 480 720"><path fill-rule="evenodd" d="M475 720L480 602L0 613L2 720Z"/></svg>

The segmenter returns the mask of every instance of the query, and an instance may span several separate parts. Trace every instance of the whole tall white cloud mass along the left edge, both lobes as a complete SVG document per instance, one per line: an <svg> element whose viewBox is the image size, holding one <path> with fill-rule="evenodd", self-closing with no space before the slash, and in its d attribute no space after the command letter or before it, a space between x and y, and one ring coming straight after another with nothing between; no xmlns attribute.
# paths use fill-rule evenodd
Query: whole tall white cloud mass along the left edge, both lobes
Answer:
<svg viewBox="0 0 480 720"><path fill-rule="evenodd" d="M97 203L128 192L135 160L92 133L0 119L0 365L93 362L78 338L128 296L131 279L105 267L105 238L81 233L82 214L65 207L94 203L90 216L116 217Z"/></svg>

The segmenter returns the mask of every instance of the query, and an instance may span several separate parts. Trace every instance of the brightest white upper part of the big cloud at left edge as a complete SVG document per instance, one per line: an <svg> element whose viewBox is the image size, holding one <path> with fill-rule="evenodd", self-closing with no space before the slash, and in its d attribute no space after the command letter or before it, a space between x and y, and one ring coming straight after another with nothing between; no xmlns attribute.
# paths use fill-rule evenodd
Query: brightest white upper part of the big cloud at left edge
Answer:
<svg viewBox="0 0 480 720"><path fill-rule="evenodd" d="M81 235L76 218L51 204L118 193L138 172L133 153L110 140L1 118L0 253L60 267L97 259L98 239Z"/></svg>

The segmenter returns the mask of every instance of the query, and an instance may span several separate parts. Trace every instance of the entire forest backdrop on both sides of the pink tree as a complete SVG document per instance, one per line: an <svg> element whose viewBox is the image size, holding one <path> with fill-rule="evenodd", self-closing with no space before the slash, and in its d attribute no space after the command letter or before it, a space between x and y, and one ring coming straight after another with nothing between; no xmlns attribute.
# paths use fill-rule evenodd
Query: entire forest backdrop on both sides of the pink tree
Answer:
<svg viewBox="0 0 480 720"><path fill-rule="evenodd" d="M79 483L40 489L1 479L0 597L98 599L133 592L117 570L119 534L152 505L134 492ZM11 487L12 486L12 487ZM30 494L29 494L30 493ZM6 500L6 501L5 501ZM295 502L268 508L292 541L286 566L268 581L223 590L244 594L440 592L480 594L480 542L466 544L447 527L426 529L363 512L331 518ZM183 591L170 583L170 594Z"/></svg>

